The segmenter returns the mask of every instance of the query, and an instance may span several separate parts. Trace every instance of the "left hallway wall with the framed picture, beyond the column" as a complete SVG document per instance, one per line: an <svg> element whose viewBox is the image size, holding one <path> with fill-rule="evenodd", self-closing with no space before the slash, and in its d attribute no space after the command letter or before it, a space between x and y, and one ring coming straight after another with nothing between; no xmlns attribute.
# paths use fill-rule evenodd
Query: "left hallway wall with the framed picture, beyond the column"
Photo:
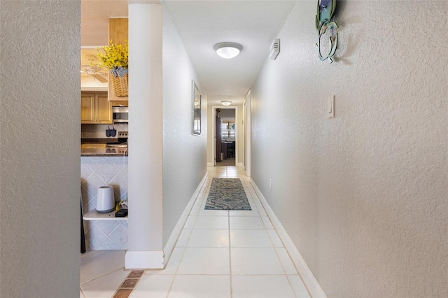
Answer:
<svg viewBox="0 0 448 298"><path fill-rule="evenodd" d="M192 130L192 80L202 93L202 134ZM163 244L207 171L207 94L163 9Z"/></svg>

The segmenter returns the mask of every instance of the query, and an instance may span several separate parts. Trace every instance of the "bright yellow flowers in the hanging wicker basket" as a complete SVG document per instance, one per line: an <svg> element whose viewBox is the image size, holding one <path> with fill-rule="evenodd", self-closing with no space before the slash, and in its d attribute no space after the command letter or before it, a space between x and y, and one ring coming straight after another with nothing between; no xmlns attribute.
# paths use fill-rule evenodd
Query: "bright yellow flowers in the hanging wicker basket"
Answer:
<svg viewBox="0 0 448 298"><path fill-rule="evenodd" d="M109 41L109 46L97 48L97 57L102 62L98 66L111 69L113 76L125 76L128 64L129 45L125 41L125 45L116 45L112 41ZM104 50L104 54L99 49Z"/></svg>

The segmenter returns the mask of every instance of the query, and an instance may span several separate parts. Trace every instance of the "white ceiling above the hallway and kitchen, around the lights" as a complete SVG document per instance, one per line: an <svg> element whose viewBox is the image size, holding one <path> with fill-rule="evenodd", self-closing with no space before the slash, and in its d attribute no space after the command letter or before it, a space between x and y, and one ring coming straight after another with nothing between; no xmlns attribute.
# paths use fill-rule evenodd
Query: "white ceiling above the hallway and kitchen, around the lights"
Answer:
<svg viewBox="0 0 448 298"><path fill-rule="evenodd" d="M269 46L294 1L162 1L172 15L209 105L241 103L268 58ZM108 43L109 17L127 17L127 0L82 0L81 45ZM234 59L216 55L216 43L241 43Z"/></svg>

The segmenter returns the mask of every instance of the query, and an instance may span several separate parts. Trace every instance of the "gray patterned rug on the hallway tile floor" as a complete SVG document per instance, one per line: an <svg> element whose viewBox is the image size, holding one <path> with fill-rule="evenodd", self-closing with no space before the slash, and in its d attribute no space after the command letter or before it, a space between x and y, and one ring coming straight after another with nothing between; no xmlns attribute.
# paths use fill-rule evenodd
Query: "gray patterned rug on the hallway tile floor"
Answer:
<svg viewBox="0 0 448 298"><path fill-rule="evenodd" d="M239 178L213 178L205 210L252 210Z"/></svg>

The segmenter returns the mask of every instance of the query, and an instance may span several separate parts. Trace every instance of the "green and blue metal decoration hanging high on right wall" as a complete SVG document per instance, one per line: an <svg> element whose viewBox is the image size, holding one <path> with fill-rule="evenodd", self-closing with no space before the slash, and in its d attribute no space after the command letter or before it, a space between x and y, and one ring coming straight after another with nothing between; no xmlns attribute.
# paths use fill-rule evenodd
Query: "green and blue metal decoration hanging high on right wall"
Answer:
<svg viewBox="0 0 448 298"><path fill-rule="evenodd" d="M316 30L319 34L319 41L316 45L318 47L319 58L322 61L328 60L330 63L333 62L332 57L335 55L337 48L337 32L335 33L337 24L332 20L335 8L336 0L317 1ZM327 33L327 29L330 29L330 32ZM328 49L323 49L321 45L321 39L325 38L325 36L328 36ZM322 55L323 50L327 50L324 55Z"/></svg>

